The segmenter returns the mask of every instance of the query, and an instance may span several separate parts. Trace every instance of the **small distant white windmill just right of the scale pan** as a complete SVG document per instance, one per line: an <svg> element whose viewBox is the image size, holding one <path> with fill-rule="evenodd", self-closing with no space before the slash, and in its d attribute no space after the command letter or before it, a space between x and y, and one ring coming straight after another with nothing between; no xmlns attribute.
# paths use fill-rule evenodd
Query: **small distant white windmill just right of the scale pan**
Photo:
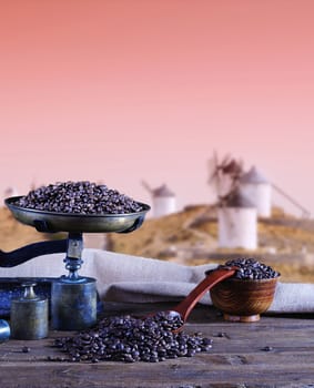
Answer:
<svg viewBox="0 0 314 388"><path fill-rule="evenodd" d="M146 182L142 181L142 185L152 196L154 217L162 217L176 212L176 197L165 184L151 188Z"/></svg>

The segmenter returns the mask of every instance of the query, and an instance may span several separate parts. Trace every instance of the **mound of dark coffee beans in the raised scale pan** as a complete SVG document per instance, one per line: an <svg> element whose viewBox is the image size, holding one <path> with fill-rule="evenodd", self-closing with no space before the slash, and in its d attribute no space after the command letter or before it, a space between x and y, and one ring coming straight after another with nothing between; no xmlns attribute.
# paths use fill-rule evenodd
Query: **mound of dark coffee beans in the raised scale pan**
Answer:
<svg viewBox="0 0 314 388"><path fill-rule="evenodd" d="M142 210L142 205L131 197L104 184L98 185L89 181L41 186L14 204L44 212L78 214L126 214Z"/></svg>

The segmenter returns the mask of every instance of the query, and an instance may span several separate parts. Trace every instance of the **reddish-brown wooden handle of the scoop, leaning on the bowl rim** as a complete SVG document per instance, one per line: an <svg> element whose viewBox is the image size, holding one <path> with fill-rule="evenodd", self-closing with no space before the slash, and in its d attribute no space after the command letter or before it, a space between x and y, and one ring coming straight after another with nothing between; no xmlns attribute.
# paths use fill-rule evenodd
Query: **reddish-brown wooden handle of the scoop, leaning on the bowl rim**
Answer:
<svg viewBox="0 0 314 388"><path fill-rule="evenodd" d="M173 310L178 312L183 321L185 321L196 303L202 296L215 286L217 283L233 276L237 268L217 268L209 273L209 275L192 292L176 305Z"/></svg>

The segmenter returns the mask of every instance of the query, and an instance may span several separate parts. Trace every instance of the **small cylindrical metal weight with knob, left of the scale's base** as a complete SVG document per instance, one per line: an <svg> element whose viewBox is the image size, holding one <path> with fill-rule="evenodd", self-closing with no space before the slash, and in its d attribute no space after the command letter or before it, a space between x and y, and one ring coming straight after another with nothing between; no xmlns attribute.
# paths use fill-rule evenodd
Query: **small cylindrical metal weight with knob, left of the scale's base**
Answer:
<svg viewBox="0 0 314 388"><path fill-rule="evenodd" d="M11 303L11 337L40 339L48 336L48 299L36 295L36 283L23 283L24 295Z"/></svg>

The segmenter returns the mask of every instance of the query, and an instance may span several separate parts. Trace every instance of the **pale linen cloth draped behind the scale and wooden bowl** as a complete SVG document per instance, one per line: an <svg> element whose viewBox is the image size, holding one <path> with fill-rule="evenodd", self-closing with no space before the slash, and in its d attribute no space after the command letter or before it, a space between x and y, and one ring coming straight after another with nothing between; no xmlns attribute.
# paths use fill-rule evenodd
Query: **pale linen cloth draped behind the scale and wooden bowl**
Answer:
<svg viewBox="0 0 314 388"><path fill-rule="evenodd" d="M38 256L0 277L59 277L67 274L65 254ZM111 302L153 303L182 300L216 264L186 266L155 258L102 249L82 252L81 276L97 279L100 298ZM210 293L200 300L212 304ZM278 282L269 313L314 313L314 284Z"/></svg>

